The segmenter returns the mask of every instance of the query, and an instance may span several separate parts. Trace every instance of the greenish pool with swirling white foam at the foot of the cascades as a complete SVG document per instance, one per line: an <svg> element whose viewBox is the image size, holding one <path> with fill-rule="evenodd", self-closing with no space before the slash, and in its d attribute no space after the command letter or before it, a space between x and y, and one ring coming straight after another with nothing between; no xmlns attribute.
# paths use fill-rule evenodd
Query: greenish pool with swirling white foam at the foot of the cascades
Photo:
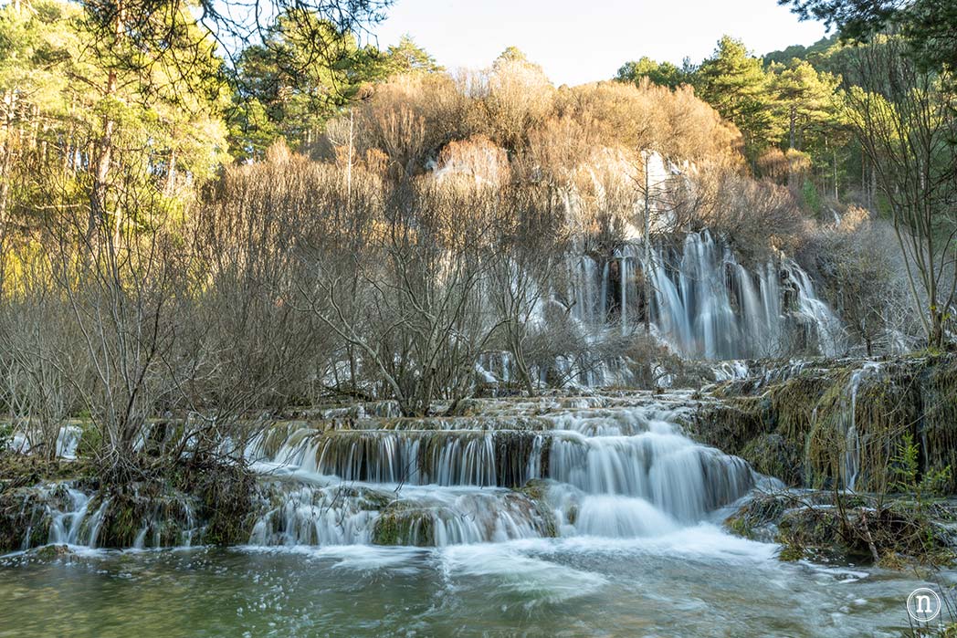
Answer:
<svg viewBox="0 0 957 638"><path fill-rule="evenodd" d="M785 563L711 523L643 539L0 559L0 636L901 636L915 575Z"/></svg>

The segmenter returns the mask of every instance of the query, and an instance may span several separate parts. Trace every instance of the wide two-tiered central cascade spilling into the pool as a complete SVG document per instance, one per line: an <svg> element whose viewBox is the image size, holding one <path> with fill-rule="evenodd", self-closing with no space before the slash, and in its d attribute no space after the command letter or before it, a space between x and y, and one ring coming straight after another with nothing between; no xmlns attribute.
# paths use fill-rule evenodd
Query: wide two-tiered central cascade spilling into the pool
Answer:
<svg viewBox="0 0 957 638"><path fill-rule="evenodd" d="M433 418L423 420L427 429L394 429L388 420L383 429L307 429L271 453L254 446L254 467L276 484L250 542L657 535L706 520L754 485L745 461L681 433L680 403L522 414L541 408L508 406L485 424L450 418L436 427ZM526 429L507 429L518 424Z"/></svg>

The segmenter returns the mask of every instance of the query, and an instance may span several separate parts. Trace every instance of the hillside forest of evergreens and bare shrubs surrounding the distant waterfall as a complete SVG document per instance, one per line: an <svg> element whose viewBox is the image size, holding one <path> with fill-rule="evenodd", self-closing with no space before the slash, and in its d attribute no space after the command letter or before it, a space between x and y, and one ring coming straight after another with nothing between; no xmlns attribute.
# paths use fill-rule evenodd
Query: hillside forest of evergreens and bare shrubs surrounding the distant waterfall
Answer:
<svg viewBox="0 0 957 638"><path fill-rule="evenodd" d="M953 96L902 36L764 58L724 37L699 65L556 88L516 48L453 76L318 13L226 59L188 7L143 43L99 39L92 10L3 10L14 419L84 412L123 451L167 410L345 395L425 414L469 396L490 352L530 393L568 381L557 359L647 367L654 283L624 334L570 321L569 261L612 262L635 234L793 256L842 321L832 354L953 334ZM675 174L650 183L654 161Z"/></svg>

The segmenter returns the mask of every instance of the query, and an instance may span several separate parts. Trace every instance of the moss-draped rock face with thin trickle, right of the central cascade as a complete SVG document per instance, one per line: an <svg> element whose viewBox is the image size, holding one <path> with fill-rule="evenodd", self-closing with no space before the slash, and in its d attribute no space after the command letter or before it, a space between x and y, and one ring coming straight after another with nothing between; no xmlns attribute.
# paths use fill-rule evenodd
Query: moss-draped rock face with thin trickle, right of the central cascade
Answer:
<svg viewBox="0 0 957 638"><path fill-rule="evenodd" d="M957 357L814 364L718 386L695 417L703 443L792 487L893 488L906 435L920 473L957 471ZM957 472L945 490L957 493Z"/></svg>

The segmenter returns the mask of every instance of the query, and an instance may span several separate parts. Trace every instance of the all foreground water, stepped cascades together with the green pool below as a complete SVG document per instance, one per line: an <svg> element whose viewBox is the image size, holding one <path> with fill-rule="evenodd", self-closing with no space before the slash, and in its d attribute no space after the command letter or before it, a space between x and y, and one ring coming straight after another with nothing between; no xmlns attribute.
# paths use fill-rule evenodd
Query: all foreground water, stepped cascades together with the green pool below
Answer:
<svg viewBox="0 0 957 638"><path fill-rule="evenodd" d="M50 541L73 553L0 560L0 637L901 635L925 583L781 562L723 531L774 482L686 437L693 403L545 397L426 419L385 404L282 424L247 451L263 491L231 550L95 549L102 506L60 490Z"/></svg>

